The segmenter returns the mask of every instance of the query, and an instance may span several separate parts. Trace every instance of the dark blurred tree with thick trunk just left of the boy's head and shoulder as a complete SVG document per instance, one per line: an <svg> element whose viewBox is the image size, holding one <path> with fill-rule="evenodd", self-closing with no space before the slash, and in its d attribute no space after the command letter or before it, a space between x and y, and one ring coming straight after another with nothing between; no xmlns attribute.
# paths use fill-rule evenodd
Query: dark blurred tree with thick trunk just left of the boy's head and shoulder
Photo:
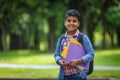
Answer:
<svg viewBox="0 0 120 80"><path fill-rule="evenodd" d="M59 27L58 25L62 24L62 22L60 22L60 21L58 22L59 24L56 24L57 23L56 20L58 17L63 15L63 13L65 12L65 9L63 9L63 7L66 7L66 6L63 5L64 4L63 1L59 1L59 0L57 0L57 1L56 0L53 0L53 1L48 0L48 1L49 1L49 5L48 5L49 14L47 14L48 15L47 21L49 24L49 34L48 34L49 46L48 46L48 48L50 51L53 51L53 50L55 50L55 45L56 45L56 38L57 38L56 31L58 31L57 30ZM61 14L59 14L59 13L61 13ZM61 18L63 18L63 17L61 17ZM61 27L63 27L63 26L61 26ZM60 28L59 28L59 30L60 30Z"/></svg>

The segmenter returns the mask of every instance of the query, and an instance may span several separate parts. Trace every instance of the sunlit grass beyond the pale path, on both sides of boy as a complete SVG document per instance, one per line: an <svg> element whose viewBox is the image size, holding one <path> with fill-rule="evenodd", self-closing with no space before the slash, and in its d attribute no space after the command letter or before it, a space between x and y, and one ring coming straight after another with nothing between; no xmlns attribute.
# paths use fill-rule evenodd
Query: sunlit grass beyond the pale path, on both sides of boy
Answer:
<svg viewBox="0 0 120 80"><path fill-rule="evenodd" d="M95 50L95 65L120 66L120 49ZM54 64L53 53L41 53L35 50L17 50L0 52L0 62L15 64Z"/></svg>

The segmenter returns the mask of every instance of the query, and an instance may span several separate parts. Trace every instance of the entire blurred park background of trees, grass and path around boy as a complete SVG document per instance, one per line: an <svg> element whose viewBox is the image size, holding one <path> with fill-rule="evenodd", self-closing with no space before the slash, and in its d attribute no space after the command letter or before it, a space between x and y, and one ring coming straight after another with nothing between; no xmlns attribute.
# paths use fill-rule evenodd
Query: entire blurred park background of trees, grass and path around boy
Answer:
<svg viewBox="0 0 120 80"><path fill-rule="evenodd" d="M0 78L57 78L58 68L45 67L56 66L68 9L79 11L79 30L95 50L89 77L120 79L120 0L0 0Z"/></svg>

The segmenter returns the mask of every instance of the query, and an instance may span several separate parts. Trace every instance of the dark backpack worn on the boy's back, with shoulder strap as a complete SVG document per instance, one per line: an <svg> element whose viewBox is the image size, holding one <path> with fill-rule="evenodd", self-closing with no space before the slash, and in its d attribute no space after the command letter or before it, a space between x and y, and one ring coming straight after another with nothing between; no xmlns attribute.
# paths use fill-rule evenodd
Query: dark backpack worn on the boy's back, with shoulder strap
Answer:
<svg viewBox="0 0 120 80"><path fill-rule="evenodd" d="M83 36L84 36L83 33L79 33L79 35L78 35L78 42L83 43ZM93 72L93 62L94 62L94 60L90 61L89 71L88 71L87 75L90 75Z"/></svg>

